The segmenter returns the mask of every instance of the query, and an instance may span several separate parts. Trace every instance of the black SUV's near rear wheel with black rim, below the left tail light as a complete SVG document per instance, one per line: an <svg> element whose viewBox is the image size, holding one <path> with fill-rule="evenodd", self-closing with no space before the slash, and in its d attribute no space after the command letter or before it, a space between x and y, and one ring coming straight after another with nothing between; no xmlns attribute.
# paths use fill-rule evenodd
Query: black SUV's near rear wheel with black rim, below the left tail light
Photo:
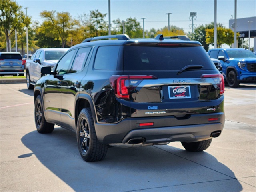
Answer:
<svg viewBox="0 0 256 192"><path fill-rule="evenodd" d="M76 139L83 160L93 162L105 158L108 145L101 144L97 139L90 108L82 109L78 116Z"/></svg>

